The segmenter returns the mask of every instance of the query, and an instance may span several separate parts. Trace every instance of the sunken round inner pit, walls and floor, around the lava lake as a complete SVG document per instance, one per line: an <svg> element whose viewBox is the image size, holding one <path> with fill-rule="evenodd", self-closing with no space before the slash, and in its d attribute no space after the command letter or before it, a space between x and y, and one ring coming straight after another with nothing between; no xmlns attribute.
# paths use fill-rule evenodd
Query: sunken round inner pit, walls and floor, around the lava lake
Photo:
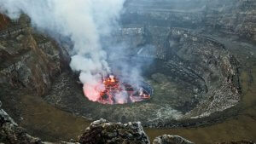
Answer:
<svg viewBox="0 0 256 144"><path fill-rule="evenodd" d="M131 43L131 48L119 63L109 60L113 72L122 63L141 66L143 82L154 90L150 99L115 105L90 101L78 75L67 71L56 78L44 100L84 118L141 121L150 127L193 125L195 119L197 124L199 119L205 123L240 100L239 64L222 43L182 28L160 26L124 26L114 37L118 43Z"/></svg>

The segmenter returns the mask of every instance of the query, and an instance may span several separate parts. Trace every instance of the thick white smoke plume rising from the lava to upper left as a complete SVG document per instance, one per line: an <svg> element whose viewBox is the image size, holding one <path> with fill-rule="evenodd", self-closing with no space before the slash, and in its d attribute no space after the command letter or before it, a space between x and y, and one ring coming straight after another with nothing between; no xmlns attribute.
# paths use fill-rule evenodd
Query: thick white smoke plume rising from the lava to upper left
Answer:
<svg viewBox="0 0 256 144"><path fill-rule="evenodd" d="M0 12L11 19L27 14L38 30L69 37L73 42L70 66L81 72L84 84L96 84L110 72L101 37L108 36L125 0L0 0Z"/></svg>

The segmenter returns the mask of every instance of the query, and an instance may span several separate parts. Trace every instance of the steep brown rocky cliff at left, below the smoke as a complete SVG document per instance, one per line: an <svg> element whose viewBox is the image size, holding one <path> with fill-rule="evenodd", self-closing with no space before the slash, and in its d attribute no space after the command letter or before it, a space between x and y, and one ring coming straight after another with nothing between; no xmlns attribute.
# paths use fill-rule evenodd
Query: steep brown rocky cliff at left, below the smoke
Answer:
<svg viewBox="0 0 256 144"><path fill-rule="evenodd" d="M49 38L33 32L26 17L9 25L0 32L1 92L24 88L44 95L51 78L61 69L58 47Z"/></svg>

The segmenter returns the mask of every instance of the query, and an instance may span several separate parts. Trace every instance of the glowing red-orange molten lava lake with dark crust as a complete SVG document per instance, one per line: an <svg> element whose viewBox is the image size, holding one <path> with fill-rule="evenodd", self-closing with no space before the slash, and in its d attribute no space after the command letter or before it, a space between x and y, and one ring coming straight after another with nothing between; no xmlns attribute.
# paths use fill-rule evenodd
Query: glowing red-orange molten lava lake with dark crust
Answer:
<svg viewBox="0 0 256 144"><path fill-rule="evenodd" d="M98 84L84 84L84 95L90 101L102 104L124 104L150 99L149 92L143 87L120 82L119 78L113 75L102 78Z"/></svg>

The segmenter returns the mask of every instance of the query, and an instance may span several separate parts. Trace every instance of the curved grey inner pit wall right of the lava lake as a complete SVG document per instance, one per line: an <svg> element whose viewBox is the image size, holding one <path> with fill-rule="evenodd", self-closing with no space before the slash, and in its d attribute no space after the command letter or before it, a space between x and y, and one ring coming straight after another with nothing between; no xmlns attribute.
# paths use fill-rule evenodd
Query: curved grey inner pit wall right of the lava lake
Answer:
<svg viewBox="0 0 256 144"><path fill-rule="evenodd" d="M206 101L188 115L208 116L235 106L240 100L238 61L224 45L211 38L172 28L168 36L171 60L182 60L207 86ZM190 115L190 116L192 116Z"/></svg>

